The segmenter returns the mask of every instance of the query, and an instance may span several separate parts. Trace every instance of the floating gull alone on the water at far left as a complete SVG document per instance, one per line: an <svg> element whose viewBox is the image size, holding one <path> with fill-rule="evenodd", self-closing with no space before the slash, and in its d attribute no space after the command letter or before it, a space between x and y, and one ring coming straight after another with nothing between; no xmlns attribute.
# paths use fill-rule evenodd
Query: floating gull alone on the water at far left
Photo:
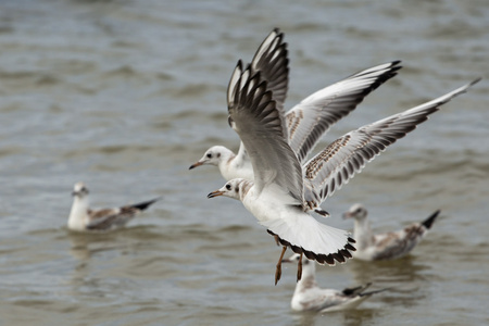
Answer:
<svg viewBox="0 0 489 326"><path fill-rule="evenodd" d="M148 209L160 198L117 209L91 210L88 200L88 188L84 183L77 183L72 192L74 200L70 212L67 227L71 230L109 230L124 226L133 217Z"/></svg>

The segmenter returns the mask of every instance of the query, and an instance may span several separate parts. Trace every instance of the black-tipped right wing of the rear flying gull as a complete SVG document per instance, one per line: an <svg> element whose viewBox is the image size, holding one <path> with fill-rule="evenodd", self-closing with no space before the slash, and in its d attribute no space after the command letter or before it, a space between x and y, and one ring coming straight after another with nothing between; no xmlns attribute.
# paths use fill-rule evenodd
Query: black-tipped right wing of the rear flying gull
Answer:
<svg viewBox="0 0 489 326"><path fill-rule="evenodd" d="M314 92L287 112L289 145L299 162L305 160L336 122L353 111L368 93L396 76L402 67L399 63L393 61L361 71Z"/></svg>

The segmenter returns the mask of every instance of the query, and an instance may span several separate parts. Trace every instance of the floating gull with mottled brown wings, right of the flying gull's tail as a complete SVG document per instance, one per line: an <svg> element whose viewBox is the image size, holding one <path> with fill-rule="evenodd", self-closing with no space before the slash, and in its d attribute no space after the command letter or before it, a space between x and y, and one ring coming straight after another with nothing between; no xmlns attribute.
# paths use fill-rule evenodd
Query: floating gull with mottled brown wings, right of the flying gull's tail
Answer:
<svg viewBox="0 0 489 326"><path fill-rule="evenodd" d="M343 214L344 218L354 218L353 237L356 252L353 258L363 261L394 260L406 255L426 236L440 211L436 211L421 223L413 223L401 230L374 235L367 221L367 210L354 204Z"/></svg>

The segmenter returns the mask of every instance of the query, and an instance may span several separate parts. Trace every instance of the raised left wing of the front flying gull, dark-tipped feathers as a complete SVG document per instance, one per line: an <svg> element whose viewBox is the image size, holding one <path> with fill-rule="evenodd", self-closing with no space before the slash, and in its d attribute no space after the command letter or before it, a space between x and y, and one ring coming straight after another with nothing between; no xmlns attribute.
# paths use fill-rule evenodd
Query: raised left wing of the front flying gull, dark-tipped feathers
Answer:
<svg viewBox="0 0 489 326"><path fill-rule="evenodd" d="M260 72L242 71L239 61L227 90L229 124L251 160L255 189L279 186L302 203L302 168L284 137L283 117Z"/></svg>

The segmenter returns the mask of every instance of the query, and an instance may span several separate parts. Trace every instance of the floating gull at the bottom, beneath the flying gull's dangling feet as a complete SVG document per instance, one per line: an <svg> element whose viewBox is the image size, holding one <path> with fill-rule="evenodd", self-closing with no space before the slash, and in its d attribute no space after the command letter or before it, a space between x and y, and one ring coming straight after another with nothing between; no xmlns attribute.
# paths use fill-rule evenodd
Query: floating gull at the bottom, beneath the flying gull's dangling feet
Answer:
<svg viewBox="0 0 489 326"><path fill-rule="evenodd" d="M300 255L294 253L284 263L294 263L300 260ZM297 283L290 305L294 311L316 311L333 312L355 309L360 303L371 298L375 293L387 289L368 291L365 290L371 283L354 288L346 288L342 291L334 289L322 289L316 284L316 266L314 261L303 260L302 278Z"/></svg>

